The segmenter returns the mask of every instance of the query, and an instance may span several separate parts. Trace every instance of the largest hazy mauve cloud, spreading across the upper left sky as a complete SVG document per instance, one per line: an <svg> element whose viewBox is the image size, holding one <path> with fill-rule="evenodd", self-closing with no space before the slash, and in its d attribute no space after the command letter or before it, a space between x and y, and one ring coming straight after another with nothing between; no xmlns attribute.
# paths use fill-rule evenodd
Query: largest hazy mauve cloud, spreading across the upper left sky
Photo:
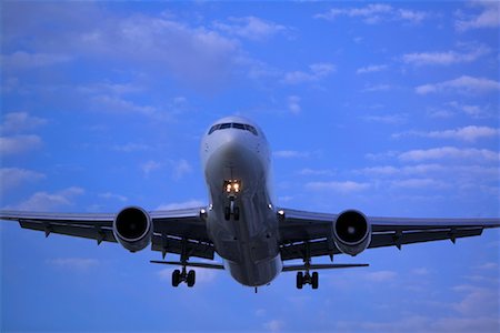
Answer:
<svg viewBox="0 0 500 333"><path fill-rule="evenodd" d="M36 53L21 50L13 54L17 62L24 64L64 62L69 60L64 54L79 54L104 65L132 64L130 69L134 71L153 71L190 87L214 90L231 78L246 58L238 40L208 26L181 22L173 16L116 13L92 3L14 3L2 11L4 18L12 18L6 22L6 40L38 37L21 42ZM22 21L16 21L19 16Z"/></svg>

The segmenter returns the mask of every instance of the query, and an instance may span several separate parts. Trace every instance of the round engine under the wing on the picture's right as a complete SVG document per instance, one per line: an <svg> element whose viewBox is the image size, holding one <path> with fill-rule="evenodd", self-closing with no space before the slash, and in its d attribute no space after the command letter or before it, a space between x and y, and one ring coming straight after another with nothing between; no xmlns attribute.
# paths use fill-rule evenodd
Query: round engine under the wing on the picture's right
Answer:
<svg viewBox="0 0 500 333"><path fill-rule="evenodd" d="M354 256L370 244L370 222L359 211L344 211L333 222L333 240L342 253Z"/></svg>

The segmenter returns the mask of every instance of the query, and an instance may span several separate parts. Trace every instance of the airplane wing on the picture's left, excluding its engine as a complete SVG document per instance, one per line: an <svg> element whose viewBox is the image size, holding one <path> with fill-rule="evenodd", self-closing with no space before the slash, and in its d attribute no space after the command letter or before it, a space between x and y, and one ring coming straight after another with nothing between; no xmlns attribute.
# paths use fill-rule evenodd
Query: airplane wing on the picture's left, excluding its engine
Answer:
<svg viewBox="0 0 500 333"><path fill-rule="evenodd" d="M151 250L164 254L182 252L189 256L213 259L214 249L207 226L200 216L203 208L149 212L153 223ZM62 214L34 213L21 211L1 211L0 220L18 221L21 228L51 233L96 240L117 242L112 224L116 214Z"/></svg>

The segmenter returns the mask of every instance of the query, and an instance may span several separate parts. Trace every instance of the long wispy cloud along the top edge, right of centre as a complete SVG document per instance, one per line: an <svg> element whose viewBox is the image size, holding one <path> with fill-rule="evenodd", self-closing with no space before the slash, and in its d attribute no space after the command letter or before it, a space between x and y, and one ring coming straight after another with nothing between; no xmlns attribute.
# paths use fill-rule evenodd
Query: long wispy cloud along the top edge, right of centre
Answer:
<svg viewBox="0 0 500 333"><path fill-rule="evenodd" d="M360 18L364 23L374 24L388 21L419 23L429 17L423 11L397 9L387 3L371 3L361 8L333 8L326 13L316 14L316 19L332 21L338 17Z"/></svg>

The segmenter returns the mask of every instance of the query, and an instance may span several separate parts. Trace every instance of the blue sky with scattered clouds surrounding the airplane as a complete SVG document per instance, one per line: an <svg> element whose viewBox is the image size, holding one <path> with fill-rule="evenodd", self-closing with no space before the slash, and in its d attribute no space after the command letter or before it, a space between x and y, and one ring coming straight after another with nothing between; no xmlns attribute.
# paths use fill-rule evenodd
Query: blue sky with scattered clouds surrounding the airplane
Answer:
<svg viewBox="0 0 500 333"><path fill-rule="evenodd" d="M2 1L1 206L207 202L209 124L257 121L283 206L499 216L498 2ZM1 331L498 332L500 233L367 251L254 295L1 223ZM176 259L171 256L171 259ZM317 259L322 262L324 259Z"/></svg>

